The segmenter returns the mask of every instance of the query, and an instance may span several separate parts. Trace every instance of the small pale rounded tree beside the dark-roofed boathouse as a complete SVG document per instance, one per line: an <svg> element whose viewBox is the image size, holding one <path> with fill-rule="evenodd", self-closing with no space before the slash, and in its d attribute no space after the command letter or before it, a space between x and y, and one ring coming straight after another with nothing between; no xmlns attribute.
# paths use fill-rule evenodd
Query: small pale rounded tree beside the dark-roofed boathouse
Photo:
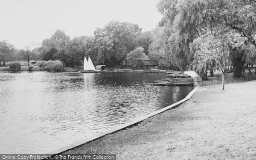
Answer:
<svg viewBox="0 0 256 160"><path fill-rule="evenodd" d="M136 49L128 53L127 56L128 56L128 62L131 62L132 64L137 66L140 65L141 60L147 58L143 47L137 47Z"/></svg>

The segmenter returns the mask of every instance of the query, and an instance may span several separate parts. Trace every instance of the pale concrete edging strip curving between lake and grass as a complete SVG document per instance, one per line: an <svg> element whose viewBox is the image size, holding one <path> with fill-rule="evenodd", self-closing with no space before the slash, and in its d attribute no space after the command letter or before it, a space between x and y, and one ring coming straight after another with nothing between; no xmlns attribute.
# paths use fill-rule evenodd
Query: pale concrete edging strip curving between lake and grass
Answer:
<svg viewBox="0 0 256 160"><path fill-rule="evenodd" d="M73 143L73 144L71 144L71 145L67 145L67 146L62 147L62 148L59 148L59 149L57 149L57 150L55 150L55 151L52 151L52 152L50 152L50 153L47 153L47 154L50 154L50 155L59 154L59 153L62 153L62 152L64 152L64 151L70 150L70 149L72 149L72 148L78 147L79 145L82 145L82 144L84 144L84 143L88 143L88 142L90 142L90 141L96 140L96 139L98 139L98 138L100 138L100 137L103 137L103 136L105 136L105 135L107 135L107 134L111 134L111 133L113 133L113 132L116 132L116 131L119 131L119 130L121 130L121 129L123 129L123 128L126 128L126 127L128 127L128 126L134 125L134 124L136 124L136 123L138 123L138 122L141 122L141 121L143 121L143 120L145 120L145 119L147 119L147 118L149 118L149 117L151 117L151 116L155 116L155 115L157 115L157 114L159 114L159 113L162 113L163 111L169 110L170 108L173 108L173 107L175 107L175 106L177 106L177 105L180 105L181 103L183 103L183 102L187 101L188 99L190 99L190 98L194 95L194 93L195 93L197 90L198 90L198 87L195 87L184 99L181 99L180 101L178 101L178 102L176 102L176 103L174 103L174 104L172 104L172 105L169 105L169 106L167 106L167 107L165 107L165 108L162 108L162 109L160 109L159 111L155 111L154 113L150 113L150 114L148 114L148 115L146 115L146 116L140 117L140 118L138 118L138 119L136 119L136 120L134 120L134 121L132 121L132 122L128 122L128 123L126 123L126 124L124 124L124 125L117 126L116 128L114 128L114 129L112 129L112 130L105 131L105 132L103 132L103 133L96 134L96 135L94 135L94 136L85 138L84 140L78 141L78 142L76 142L76 143Z"/></svg>

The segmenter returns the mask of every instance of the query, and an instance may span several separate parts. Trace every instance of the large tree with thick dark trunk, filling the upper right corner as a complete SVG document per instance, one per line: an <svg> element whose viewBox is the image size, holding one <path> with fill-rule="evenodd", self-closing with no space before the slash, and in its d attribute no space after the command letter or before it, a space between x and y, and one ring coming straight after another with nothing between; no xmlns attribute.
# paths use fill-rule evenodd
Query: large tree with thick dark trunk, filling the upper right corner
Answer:
<svg viewBox="0 0 256 160"><path fill-rule="evenodd" d="M239 37L246 39L245 42L256 47L256 0L207 0L207 3L198 35L205 36L205 33L210 33L223 36L237 33ZM242 47L233 48L234 77L241 77L247 56L250 57L250 54Z"/></svg>

